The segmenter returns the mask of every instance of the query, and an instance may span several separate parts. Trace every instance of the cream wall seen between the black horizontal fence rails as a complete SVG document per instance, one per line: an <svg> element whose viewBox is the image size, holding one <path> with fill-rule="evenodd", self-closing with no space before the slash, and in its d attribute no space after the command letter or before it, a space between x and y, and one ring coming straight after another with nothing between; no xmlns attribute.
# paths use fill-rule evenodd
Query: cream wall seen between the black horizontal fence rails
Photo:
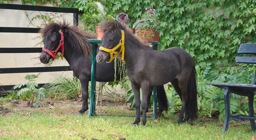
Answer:
<svg viewBox="0 0 256 140"><path fill-rule="evenodd" d="M10 4L22 4L21 0L14 1ZM42 5L51 6L51 5ZM33 19L36 15L52 17L55 21L62 22L63 17L73 24L73 13L53 13L41 11L24 11L0 9L0 27L42 27L45 22L39 18ZM33 48L43 47L42 37L37 33L0 33L0 48ZM0 68L22 68L22 67L49 67L42 64L39 60L41 53L0 53ZM51 66L69 66L66 60L55 59ZM72 71L58 72L37 72L37 73L13 73L0 74L0 86L16 85L25 82L24 77L27 74L39 74L37 83L49 83L54 77L59 75L72 78Z"/></svg>

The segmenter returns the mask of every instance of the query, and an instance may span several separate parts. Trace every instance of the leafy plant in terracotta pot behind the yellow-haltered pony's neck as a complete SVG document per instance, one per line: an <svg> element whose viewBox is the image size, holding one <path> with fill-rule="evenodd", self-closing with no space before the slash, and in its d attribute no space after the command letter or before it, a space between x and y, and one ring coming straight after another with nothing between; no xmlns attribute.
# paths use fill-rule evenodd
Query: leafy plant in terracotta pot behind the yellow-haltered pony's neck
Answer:
<svg viewBox="0 0 256 140"><path fill-rule="evenodd" d="M145 8L147 11L142 15L144 20L139 20L135 25L135 35L144 41L158 41L159 39L159 18L156 16L155 9Z"/></svg>

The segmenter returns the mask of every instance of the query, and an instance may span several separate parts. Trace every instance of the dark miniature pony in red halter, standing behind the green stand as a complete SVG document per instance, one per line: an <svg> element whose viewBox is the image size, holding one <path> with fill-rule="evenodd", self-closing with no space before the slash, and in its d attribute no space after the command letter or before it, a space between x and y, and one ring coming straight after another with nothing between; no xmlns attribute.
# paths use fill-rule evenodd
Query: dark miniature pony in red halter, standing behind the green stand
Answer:
<svg viewBox="0 0 256 140"><path fill-rule="evenodd" d="M70 68L81 82L83 104L81 110L77 114L83 114L86 110L88 110L88 83L91 81L92 67L92 49L91 44L87 42L87 39L96 39L96 36L90 32L81 31L77 26L70 26L65 22L62 24L49 23L42 28L39 33L41 33L44 37L44 51L42 51L42 54L40 55L40 61L44 64L49 63L49 60L54 58L53 54L63 51L61 48L57 51L56 49L58 48L59 44L64 43L64 58L68 61ZM62 40L61 34L63 34ZM54 50L56 52L53 52ZM96 81L114 81L114 62L106 65L97 64L96 68ZM118 71L119 70L117 70L117 80L120 79L120 74ZM152 93L152 88L149 89L149 92ZM157 92L157 98L159 101L158 112L162 113L164 109L168 109L168 101L163 85L158 87ZM151 94L149 94L148 102L150 101L150 97Z"/></svg>

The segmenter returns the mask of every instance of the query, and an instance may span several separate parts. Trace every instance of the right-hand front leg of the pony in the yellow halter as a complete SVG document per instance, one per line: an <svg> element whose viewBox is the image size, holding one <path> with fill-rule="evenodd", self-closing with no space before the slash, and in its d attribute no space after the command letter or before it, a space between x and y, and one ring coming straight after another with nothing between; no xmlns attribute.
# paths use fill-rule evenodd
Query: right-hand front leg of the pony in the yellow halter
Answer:
<svg viewBox="0 0 256 140"><path fill-rule="evenodd" d="M147 122L147 97L148 97L148 90L149 90L149 83L148 82L143 82L141 84L141 90L142 90L142 101L141 101L141 108L142 108L142 124L145 126Z"/></svg>

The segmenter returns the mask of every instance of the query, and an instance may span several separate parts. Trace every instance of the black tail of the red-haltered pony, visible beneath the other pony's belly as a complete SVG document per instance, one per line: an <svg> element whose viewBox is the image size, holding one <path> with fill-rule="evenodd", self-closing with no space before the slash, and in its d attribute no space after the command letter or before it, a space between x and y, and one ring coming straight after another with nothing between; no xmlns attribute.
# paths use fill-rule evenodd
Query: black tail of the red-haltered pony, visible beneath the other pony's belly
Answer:
<svg viewBox="0 0 256 140"><path fill-rule="evenodd" d="M168 99L166 97L163 85L157 87L157 100L158 100L158 104L159 104L158 112L162 113L163 110L167 111L169 103L168 103Z"/></svg>

